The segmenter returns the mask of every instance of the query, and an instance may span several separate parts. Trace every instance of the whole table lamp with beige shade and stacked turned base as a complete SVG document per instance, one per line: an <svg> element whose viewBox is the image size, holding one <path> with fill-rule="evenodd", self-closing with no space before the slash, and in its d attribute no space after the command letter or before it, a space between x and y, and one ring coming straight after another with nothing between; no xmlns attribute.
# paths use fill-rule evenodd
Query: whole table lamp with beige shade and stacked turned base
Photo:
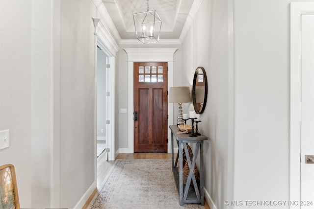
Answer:
<svg viewBox="0 0 314 209"><path fill-rule="evenodd" d="M169 89L169 103L178 103L179 116L177 119L177 125L183 124L182 103L191 102L190 88L188 86L183 87L170 87Z"/></svg>

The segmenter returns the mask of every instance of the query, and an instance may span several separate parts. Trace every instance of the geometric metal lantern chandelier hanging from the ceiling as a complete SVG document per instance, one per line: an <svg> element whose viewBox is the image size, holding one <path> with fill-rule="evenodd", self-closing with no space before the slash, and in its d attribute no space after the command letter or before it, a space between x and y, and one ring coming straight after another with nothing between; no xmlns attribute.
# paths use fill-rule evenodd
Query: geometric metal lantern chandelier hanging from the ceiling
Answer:
<svg viewBox="0 0 314 209"><path fill-rule="evenodd" d="M161 29L161 19L156 10L133 14L136 38L143 44L157 43Z"/></svg>

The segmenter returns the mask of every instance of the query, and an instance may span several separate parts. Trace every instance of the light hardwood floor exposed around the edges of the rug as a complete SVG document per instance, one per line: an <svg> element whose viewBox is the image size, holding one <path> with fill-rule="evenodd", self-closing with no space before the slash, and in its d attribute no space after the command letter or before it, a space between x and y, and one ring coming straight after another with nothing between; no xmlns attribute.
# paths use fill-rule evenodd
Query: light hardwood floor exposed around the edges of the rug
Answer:
<svg viewBox="0 0 314 209"><path fill-rule="evenodd" d="M95 195L98 194L98 189L101 189L101 186L104 184L105 177L110 171L112 165L115 161L106 161L105 160L106 153L102 153L97 158L97 188L94 190L93 194L87 200L86 204L82 209L86 209L93 199ZM138 160L138 159L146 159L146 160L171 160L171 153L132 153L132 154L118 154L116 160ZM169 168L170 169L170 168ZM178 203L179 204L179 203ZM209 205L205 201L205 209L210 209Z"/></svg>

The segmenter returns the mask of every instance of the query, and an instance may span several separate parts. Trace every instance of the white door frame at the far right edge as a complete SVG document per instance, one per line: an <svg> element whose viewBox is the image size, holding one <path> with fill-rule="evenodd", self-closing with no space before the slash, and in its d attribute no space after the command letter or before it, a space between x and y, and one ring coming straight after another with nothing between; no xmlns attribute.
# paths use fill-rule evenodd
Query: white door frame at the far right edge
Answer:
<svg viewBox="0 0 314 209"><path fill-rule="evenodd" d="M290 3L290 169L289 200L301 198L301 16L314 15L314 2ZM300 209L290 206L290 209Z"/></svg>

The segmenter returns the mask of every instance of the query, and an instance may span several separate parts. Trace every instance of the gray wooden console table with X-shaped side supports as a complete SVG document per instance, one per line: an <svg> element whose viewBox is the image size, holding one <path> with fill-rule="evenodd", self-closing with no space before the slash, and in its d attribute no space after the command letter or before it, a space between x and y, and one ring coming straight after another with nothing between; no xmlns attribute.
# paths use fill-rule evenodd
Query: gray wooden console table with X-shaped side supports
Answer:
<svg viewBox="0 0 314 209"><path fill-rule="evenodd" d="M177 134L179 130L178 126L170 125L171 130L171 153L172 153L172 172L175 177L177 189L179 192L180 205L182 206L184 203L201 203L204 206L204 164L203 164L203 143L204 140L207 140L207 137L201 135L197 137L189 137L190 134ZM176 158L176 162L174 162L174 151L173 151L173 138L176 138L179 151ZM196 143L195 150L193 152L192 162L190 160L190 156L186 154L186 161L188 163L190 172L187 177L186 185L183 185L183 151L182 146L184 148L184 152L188 153L187 143ZM200 153L200 184L197 184L194 175L194 166L196 164L196 159ZM177 168L178 159L180 161L179 170ZM193 181L193 186L191 185L191 181ZM184 191L184 192L183 192Z"/></svg>

